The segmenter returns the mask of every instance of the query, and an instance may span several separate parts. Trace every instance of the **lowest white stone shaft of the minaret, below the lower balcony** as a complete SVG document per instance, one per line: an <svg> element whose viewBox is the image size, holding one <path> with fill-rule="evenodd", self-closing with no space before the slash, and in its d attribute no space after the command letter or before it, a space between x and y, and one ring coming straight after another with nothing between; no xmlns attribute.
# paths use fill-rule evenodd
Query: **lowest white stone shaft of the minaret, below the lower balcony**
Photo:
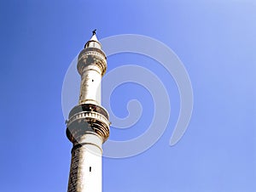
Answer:
<svg viewBox="0 0 256 192"><path fill-rule="evenodd" d="M73 145L67 192L102 192L102 139L88 134Z"/></svg>

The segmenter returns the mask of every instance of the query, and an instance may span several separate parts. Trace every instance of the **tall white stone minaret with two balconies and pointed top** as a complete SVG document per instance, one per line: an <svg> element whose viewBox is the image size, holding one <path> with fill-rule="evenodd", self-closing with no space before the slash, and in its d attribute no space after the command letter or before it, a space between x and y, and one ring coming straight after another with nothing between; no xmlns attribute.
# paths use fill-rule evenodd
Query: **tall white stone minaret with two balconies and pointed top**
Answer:
<svg viewBox="0 0 256 192"><path fill-rule="evenodd" d="M67 138L73 143L67 192L102 191L102 144L108 139L108 111L101 106L101 82L106 55L96 30L79 54L79 104L70 111Z"/></svg>

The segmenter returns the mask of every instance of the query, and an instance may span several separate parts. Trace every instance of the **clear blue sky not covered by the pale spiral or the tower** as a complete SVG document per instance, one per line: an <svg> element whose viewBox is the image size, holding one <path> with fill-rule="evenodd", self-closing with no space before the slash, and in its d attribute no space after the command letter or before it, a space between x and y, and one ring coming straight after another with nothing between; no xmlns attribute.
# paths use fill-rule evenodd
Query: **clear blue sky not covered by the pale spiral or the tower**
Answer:
<svg viewBox="0 0 256 192"><path fill-rule="evenodd" d="M61 87L95 28L99 38L134 33L166 43L183 61L195 99L187 132L170 147L179 112L172 76L141 55L108 58L108 71L137 64L160 76L172 114L143 154L103 158L103 191L256 191L255 20L253 0L1 1L1 191L67 191L72 145ZM132 83L113 92L117 116L127 115L130 99L142 102L142 119L112 129L113 139L140 135L153 116L150 94Z"/></svg>

